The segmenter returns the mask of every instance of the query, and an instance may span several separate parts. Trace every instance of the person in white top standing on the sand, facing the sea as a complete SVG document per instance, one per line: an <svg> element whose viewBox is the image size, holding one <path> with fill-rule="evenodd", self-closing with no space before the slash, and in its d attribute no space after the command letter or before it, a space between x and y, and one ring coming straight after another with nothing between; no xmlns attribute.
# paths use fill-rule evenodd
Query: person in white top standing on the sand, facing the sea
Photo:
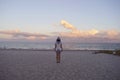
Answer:
<svg viewBox="0 0 120 80"><path fill-rule="evenodd" d="M60 37L58 37L56 39L56 43L55 43L55 51L56 51L56 62L60 63L60 54L62 52L63 48L62 48L62 42Z"/></svg>

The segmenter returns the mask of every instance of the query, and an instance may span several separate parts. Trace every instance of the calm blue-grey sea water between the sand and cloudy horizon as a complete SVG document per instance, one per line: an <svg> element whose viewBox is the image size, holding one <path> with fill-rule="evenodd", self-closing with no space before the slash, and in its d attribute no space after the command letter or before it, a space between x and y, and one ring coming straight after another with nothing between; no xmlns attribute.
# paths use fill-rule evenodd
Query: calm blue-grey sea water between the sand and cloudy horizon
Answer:
<svg viewBox="0 0 120 80"><path fill-rule="evenodd" d="M0 48L16 49L53 49L54 43L40 42L0 42ZM66 50L115 50L120 43L63 43Z"/></svg>

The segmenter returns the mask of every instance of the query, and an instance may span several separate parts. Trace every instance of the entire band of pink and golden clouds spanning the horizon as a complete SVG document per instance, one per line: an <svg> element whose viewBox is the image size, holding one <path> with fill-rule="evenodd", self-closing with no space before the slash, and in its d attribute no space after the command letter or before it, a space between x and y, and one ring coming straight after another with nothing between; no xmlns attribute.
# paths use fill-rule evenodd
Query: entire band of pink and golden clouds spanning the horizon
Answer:
<svg viewBox="0 0 120 80"><path fill-rule="evenodd" d="M117 30L79 30L65 20L61 20L62 25L68 31L51 32L49 35L40 33L22 32L19 29L15 30L0 30L0 38L2 39L21 39L21 40L43 40L53 41L56 36L61 36L64 40L78 42L120 42L120 32ZM55 25L59 26L59 25ZM60 27L60 26L59 26Z"/></svg>

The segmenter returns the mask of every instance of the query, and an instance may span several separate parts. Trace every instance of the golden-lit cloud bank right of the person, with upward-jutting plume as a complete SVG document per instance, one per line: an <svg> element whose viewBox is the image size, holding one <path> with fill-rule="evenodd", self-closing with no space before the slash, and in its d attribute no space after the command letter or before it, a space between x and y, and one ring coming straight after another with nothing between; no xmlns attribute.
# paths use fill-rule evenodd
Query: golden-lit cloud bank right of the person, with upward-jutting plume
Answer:
<svg viewBox="0 0 120 80"><path fill-rule="evenodd" d="M75 26L68 23L65 20L61 20L61 25L70 30L68 32L60 32L59 34L63 37L71 37L71 38L84 38L83 40L93 40L93 41L105 41L105 40L113 40L120 41L120 32L116 30L78 30Z"/></svg>

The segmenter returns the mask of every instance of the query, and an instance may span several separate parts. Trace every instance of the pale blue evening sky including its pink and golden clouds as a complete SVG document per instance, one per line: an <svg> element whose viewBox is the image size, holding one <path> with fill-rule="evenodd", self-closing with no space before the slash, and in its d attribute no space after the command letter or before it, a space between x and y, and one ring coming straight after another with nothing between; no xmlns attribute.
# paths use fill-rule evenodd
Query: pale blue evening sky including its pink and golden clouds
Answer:
<svg viewBox="0 0 120 80"><path fill-rule="evenodd" d="M0 0L0 40L120 42L120 0Z"/></svg>

